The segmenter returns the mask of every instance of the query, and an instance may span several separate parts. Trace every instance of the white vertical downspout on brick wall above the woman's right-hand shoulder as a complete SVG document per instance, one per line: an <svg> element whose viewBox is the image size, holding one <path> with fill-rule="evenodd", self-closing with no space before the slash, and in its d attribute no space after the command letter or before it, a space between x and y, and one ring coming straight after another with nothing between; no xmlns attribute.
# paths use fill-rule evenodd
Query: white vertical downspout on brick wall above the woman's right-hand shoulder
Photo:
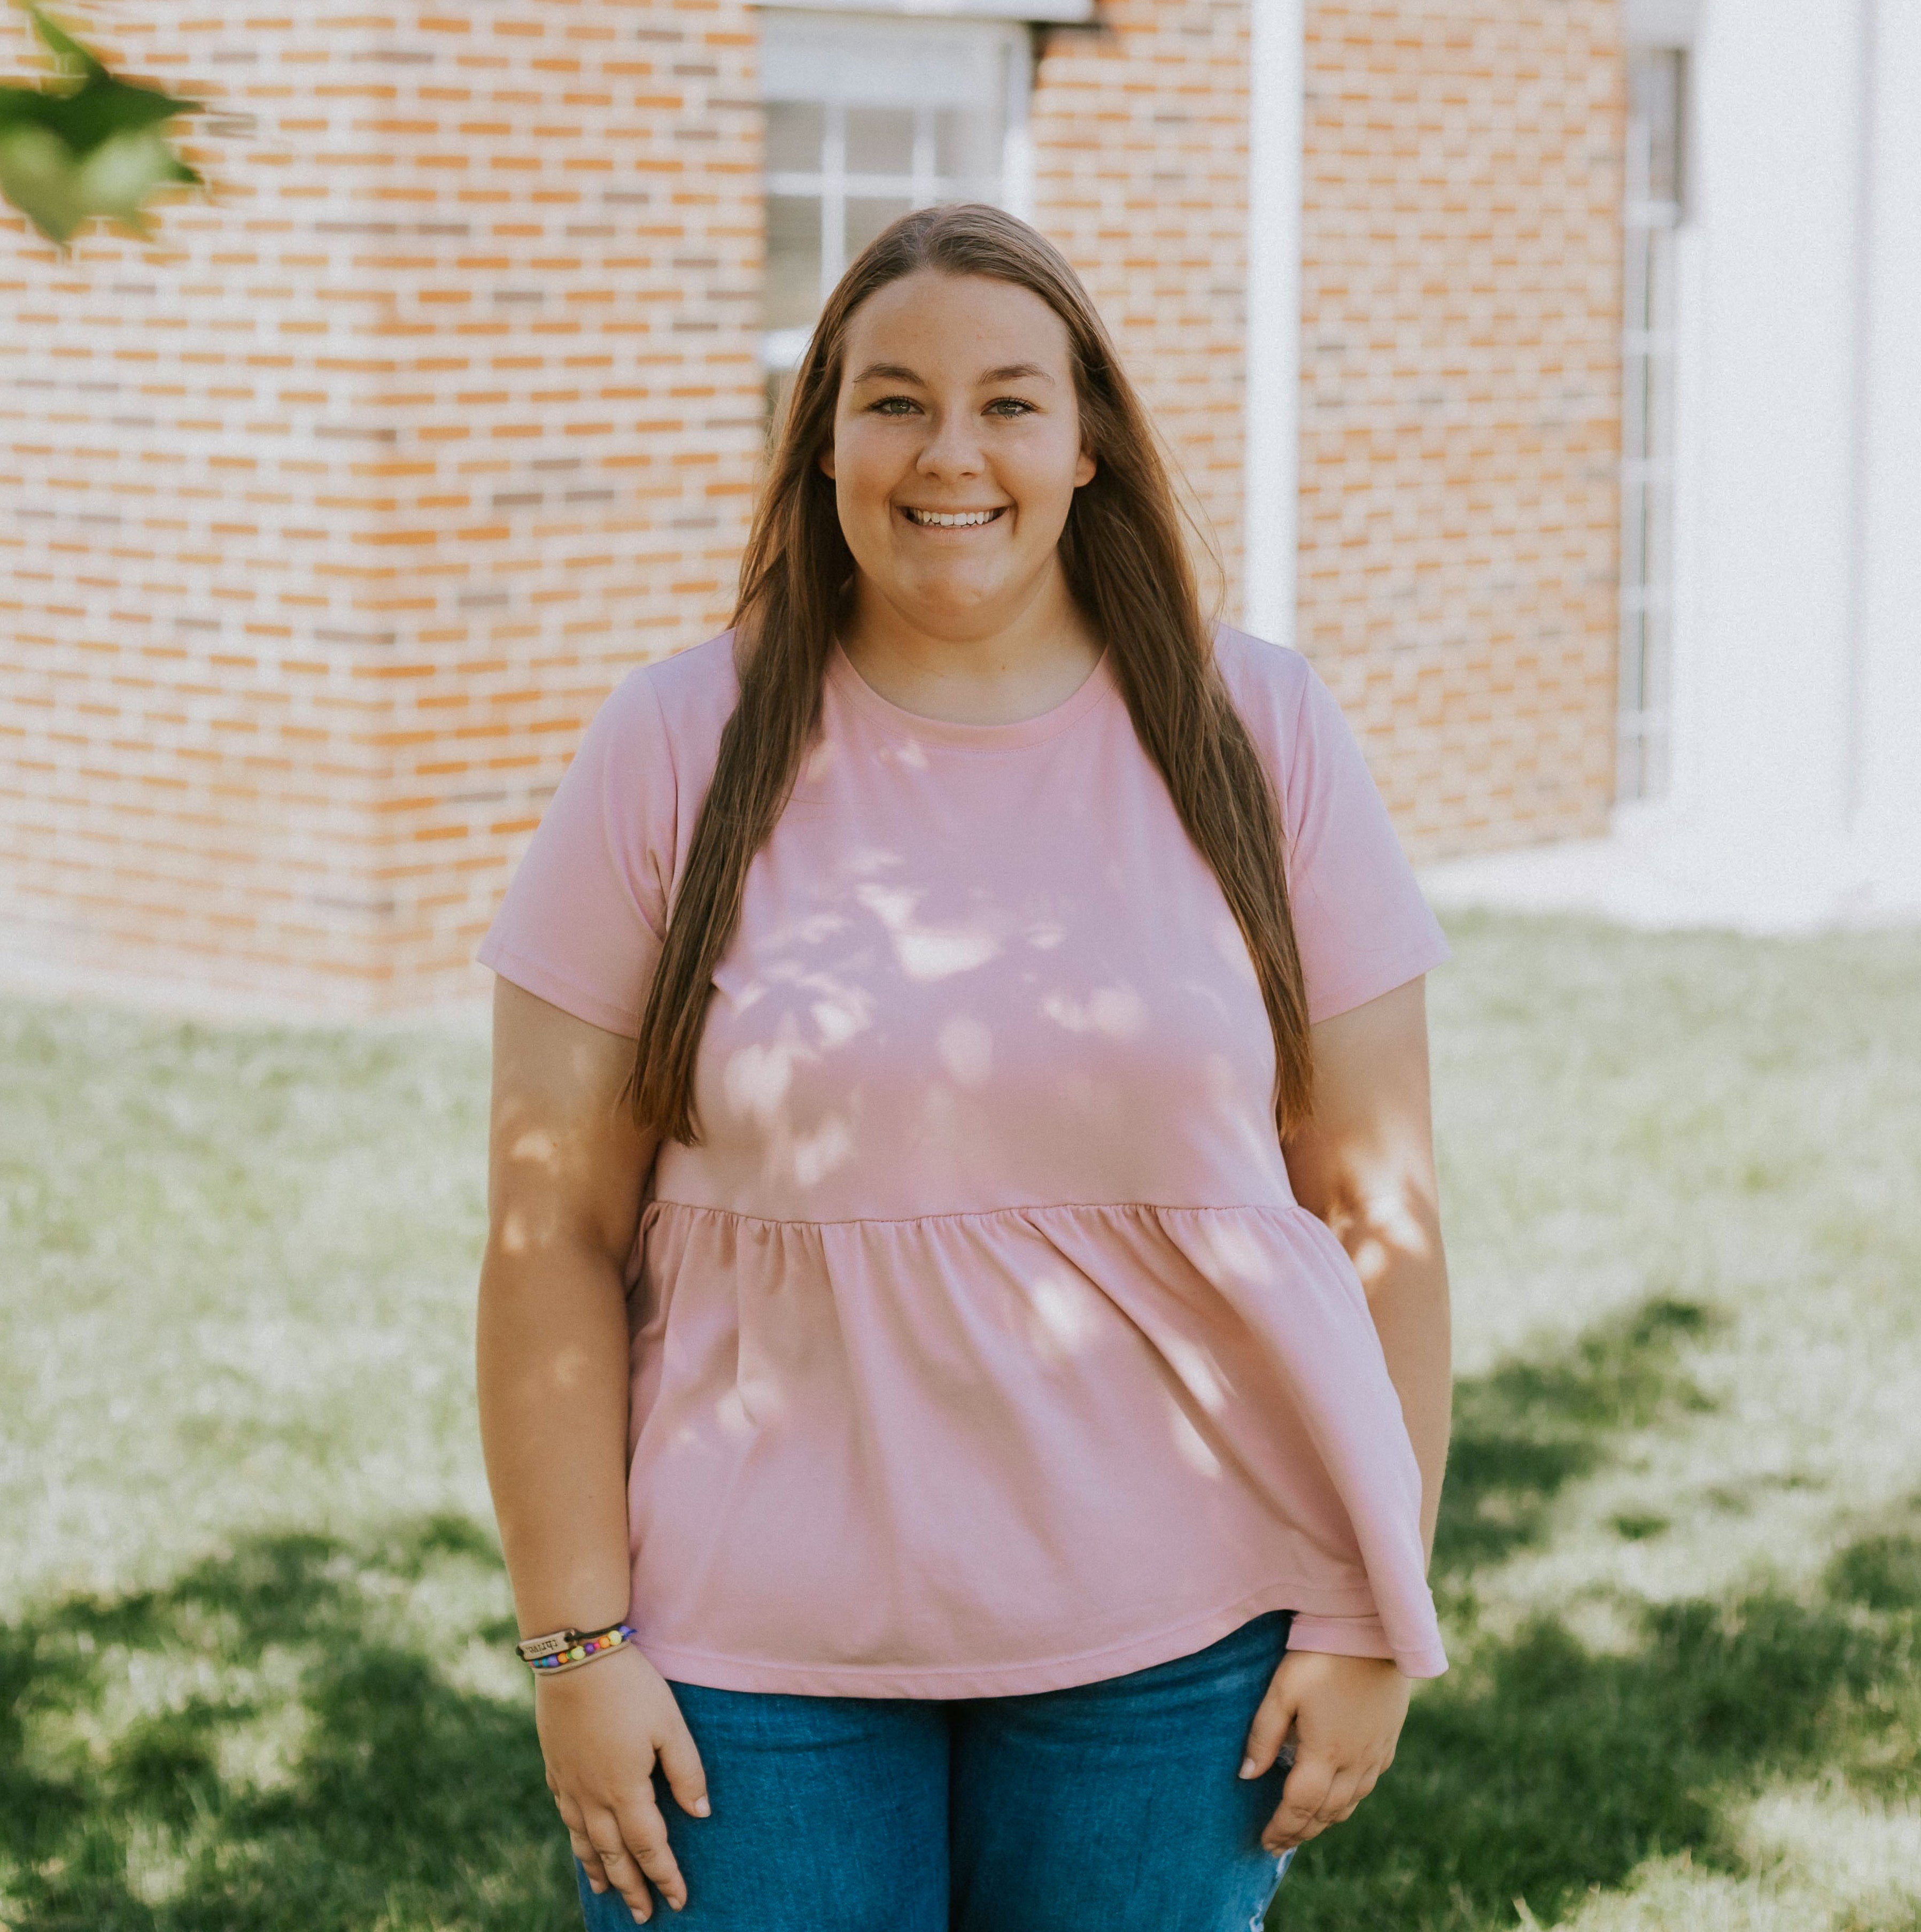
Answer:
<svg viewBox="0 0 1921 1932"><path fill-rule="evenodd" d="M1295 641L1301 541L1305 0L1252 0L1247 168L1243 620Z"/></svg>

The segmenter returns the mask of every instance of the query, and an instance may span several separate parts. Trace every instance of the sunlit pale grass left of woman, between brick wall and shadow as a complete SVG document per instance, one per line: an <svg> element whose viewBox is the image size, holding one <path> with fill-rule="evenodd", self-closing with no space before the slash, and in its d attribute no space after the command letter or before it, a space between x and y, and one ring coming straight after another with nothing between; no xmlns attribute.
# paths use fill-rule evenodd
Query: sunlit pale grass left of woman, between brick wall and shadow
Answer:
<svg viewBox="0 0 1921 1932"><path fill-rule="evenodd" d="M0 1615L236 1532L485 1519L483 1043L0 1005Z"/></svg>

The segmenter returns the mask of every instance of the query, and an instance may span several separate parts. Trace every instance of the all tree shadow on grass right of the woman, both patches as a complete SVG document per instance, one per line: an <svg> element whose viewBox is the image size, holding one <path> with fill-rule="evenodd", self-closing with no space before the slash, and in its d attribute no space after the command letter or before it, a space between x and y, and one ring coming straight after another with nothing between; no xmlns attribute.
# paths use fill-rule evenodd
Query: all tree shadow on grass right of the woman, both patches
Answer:
<svg viewBox="0 0 1921 1932"><path fill-rule="evenodd" d="M1475 1629L1478 1565L1544 1542L1618 1437L1708 1406L1687 1356L1718 1325L1656 1298L1457 1385L1434 1577L1461 1662L1368 1803L1301 1855L1272 1932L1492 1932L1517 1897L1554 1924L1656 1855L1734 1866L1722 1806L1770 1772L1921 1789L1921 1540L1902 1526L1848 1546L1809 1600L1625 1604L1610 1652L1552 1617L1505 1642Z"/></svg>

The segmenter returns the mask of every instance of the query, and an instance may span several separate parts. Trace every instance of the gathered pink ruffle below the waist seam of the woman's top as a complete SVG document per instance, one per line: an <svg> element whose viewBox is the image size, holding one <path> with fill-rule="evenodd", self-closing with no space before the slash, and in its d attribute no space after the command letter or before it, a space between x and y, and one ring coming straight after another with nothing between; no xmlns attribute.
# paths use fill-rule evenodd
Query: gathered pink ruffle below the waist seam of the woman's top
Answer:
<svg viewBox="0 0 1921 1932"><path fill-rule="evenodd" d="M1446 1667L1361 1279L1299 1206L649 1202L630 1617L669 1679L1003 1696L1198 1650Z"/></svg>

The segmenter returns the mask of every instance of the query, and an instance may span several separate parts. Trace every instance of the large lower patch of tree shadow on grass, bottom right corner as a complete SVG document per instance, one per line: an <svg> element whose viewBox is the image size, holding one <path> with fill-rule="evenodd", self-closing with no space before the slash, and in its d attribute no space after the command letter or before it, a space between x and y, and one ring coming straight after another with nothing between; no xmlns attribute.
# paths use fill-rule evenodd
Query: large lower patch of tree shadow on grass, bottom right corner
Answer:
<svg viewBox="0 0 1921 1932"><path fill-rule="evenodd" d="M1770 1772L1834 1766L1886 1797L1915 1793L1921 1542L1869 1542L1865 1567L1884 1604L1902 1586L1898 1609L1871 1613L1830 1573L1813 1604L1757 1592L1641 1607L1623 1654L1552 1619L1482 1644L1461 1683L1415 1702L1393 1770L1306 1847L1270 1926L1492 1932L1517 1924L1517 1897L1556 1924L1650 1857L1739 1868L1722 1806Z"/></svg>

